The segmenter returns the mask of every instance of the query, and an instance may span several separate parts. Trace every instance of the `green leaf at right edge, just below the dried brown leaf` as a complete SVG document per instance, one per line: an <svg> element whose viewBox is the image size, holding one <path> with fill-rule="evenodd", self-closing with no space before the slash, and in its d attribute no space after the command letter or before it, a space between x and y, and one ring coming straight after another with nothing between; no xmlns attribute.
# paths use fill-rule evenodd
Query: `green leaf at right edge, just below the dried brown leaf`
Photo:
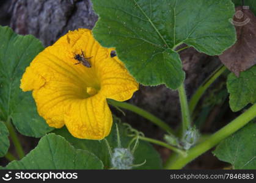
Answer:
<svg viewBox="0 0 256 183"><path fill-rule="evenodd" d="M230 93L230 108L236 112L247 104L256 102L256 66L236 77L230 73L227 79L227 89Z"/></svg>

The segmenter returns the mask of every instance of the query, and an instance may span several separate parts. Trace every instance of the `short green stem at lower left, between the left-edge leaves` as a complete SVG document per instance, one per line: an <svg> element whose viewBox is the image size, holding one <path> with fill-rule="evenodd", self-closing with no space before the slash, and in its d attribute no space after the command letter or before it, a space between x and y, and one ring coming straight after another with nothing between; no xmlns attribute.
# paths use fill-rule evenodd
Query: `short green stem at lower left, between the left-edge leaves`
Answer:
<svg viewBox="0 0 256 183"><path fill-rule="evenodd" d="M21 146L20 140L18 139L18 136L15 132L15 129L12 126L12 122L10 121L10 118L7 120L6 126L9 129L10 138L12 139L12 142L13 142L13 145L16 149L16 152L17 152L19 158L22 159L25 156L25 153L24 153L23 148Z"/></svg>

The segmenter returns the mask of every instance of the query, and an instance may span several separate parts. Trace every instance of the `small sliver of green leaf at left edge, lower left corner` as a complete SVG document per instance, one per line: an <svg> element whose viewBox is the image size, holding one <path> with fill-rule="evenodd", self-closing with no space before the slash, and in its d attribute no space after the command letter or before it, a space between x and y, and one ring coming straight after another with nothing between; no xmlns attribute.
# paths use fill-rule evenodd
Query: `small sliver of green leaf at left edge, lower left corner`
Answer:
<svg viewBox="0 0 256 183"><path fill-rule="evenodd" d="M0 157L5 156L7 153L10 142L9 142L9 131L5 126L4 122L0 121Z"/></svg>

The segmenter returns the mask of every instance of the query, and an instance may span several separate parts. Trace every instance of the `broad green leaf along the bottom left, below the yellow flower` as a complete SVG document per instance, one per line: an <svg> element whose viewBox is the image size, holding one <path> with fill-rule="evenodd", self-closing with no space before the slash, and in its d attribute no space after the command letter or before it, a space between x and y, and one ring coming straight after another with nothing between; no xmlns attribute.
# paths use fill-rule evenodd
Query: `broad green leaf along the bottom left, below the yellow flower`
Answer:
<svg viewBox="0 0 256 183"><path fill-rule="evenodd" d="M48 134L37 147L20 161L10 162L7 169L102 169L103 163L89 151L75 149L65 138Z"/></svg>

